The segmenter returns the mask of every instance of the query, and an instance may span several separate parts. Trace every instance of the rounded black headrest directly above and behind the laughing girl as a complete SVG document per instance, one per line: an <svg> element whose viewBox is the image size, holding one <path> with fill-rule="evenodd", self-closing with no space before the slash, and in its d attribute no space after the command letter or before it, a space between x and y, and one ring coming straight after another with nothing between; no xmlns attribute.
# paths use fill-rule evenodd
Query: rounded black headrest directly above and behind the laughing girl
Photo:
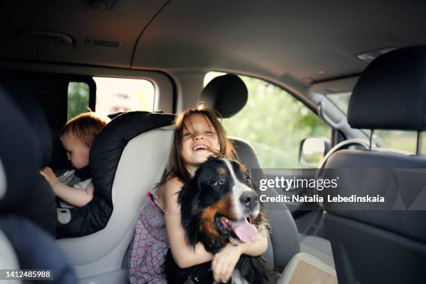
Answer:
<svg viewBox="0 0 426 284"><path fill-rule="evenodd" d="M215 109L223 118L235 116L246 105L247 99L246 84L235 74L212 79L200 95L200 103Z"/></svg>

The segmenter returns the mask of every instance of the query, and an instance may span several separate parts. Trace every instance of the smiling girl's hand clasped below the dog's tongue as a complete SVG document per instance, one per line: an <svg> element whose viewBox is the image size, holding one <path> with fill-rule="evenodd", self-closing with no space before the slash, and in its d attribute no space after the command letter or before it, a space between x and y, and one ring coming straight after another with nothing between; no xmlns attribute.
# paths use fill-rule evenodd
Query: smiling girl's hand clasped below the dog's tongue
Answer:
<svg viewBox="0 0 426 284"><path fill-rule="evenodd" d="M241 255L242 246L231 243L226 244L219 253L216 253L212 261L214 281L217 283L228 282Z"/></svg>

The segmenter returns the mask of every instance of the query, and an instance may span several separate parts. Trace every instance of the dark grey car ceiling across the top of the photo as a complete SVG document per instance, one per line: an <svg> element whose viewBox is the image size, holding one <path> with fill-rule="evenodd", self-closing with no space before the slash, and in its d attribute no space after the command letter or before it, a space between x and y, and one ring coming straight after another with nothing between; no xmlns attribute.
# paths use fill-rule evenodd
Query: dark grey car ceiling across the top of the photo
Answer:
<svg viewBox="0 0 426 284"><path fill-rule="evenodd" d="M310 85L363 71L355 54L426 44L425 1L13 1L0 56L165 72L223 70ZM24 32L23 32L24 31ZM27 33L30 31L30 33ZM61 44L33 31L63 33ZM118 40L90 47L87 38Z"/></svg>

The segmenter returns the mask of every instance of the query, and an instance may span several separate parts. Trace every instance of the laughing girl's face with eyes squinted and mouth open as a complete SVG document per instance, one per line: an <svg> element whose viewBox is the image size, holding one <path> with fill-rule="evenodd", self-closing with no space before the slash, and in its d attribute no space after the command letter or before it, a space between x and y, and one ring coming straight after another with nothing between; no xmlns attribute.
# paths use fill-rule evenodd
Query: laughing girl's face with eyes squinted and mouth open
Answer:
<svg viewBox="0 0 426 284"><path fill-rule="evenodd" d="M210 149L220 150L219 139L212 122L201 113L194 113L184 120L182 158L190 173L213 154Z"/></svg>

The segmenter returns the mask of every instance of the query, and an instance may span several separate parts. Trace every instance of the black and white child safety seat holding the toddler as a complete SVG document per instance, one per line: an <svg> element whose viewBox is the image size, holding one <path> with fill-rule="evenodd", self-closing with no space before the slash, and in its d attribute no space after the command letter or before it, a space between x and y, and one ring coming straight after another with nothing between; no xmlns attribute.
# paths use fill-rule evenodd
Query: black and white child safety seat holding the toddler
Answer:
<svg viewBox="0 0 426 284"><path fill-rule="evenodd" d="M96 137L89 164L95 194L98 191L102 196L90 202L96 207L93 211L72 215L74 221L70 221L72 232L88 228L90 234L86 231L81 237L58 240L77 271L79 283L127 283L123 258L145 194L159 182L166 166L173 119L173 115L161 113L123 113ZM97 202L101 199L111 204L111 211L108 207L102 211L102 203ZM98 213L103 214L103 220L97 219ZM86 216L88 221L82 218Z"/></svg>

